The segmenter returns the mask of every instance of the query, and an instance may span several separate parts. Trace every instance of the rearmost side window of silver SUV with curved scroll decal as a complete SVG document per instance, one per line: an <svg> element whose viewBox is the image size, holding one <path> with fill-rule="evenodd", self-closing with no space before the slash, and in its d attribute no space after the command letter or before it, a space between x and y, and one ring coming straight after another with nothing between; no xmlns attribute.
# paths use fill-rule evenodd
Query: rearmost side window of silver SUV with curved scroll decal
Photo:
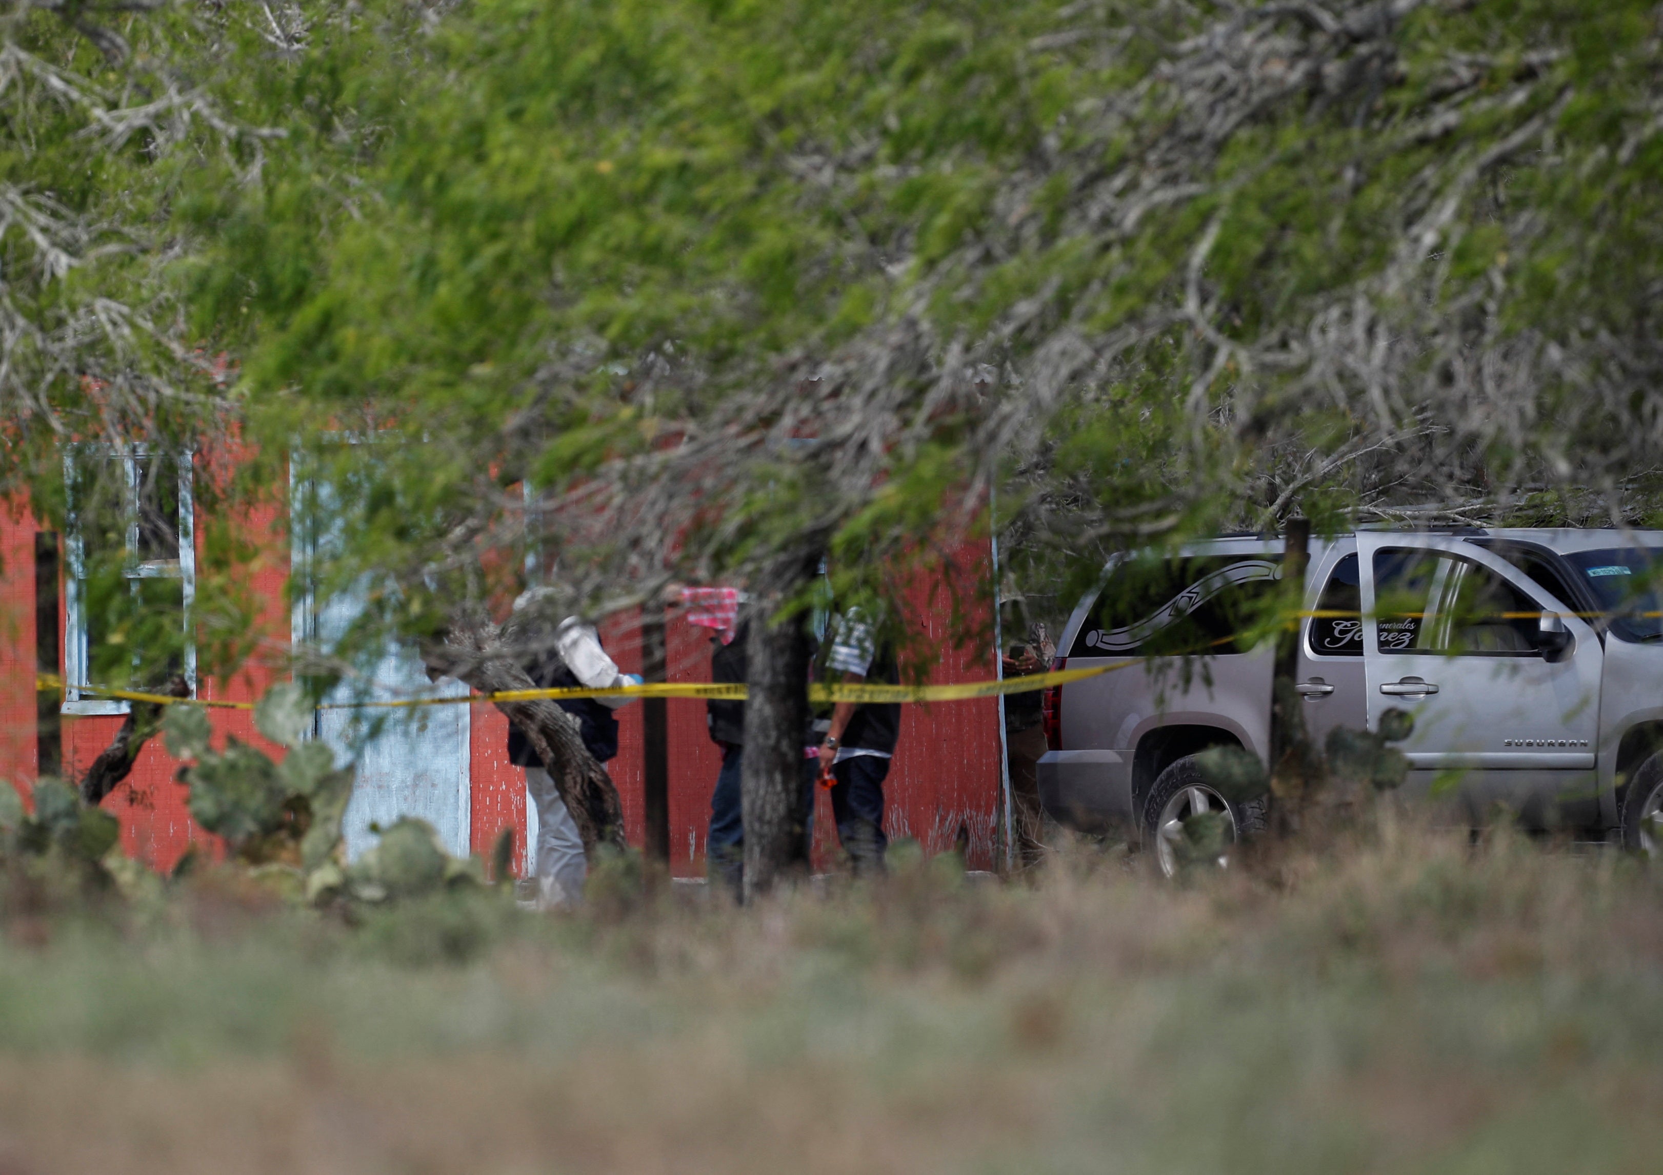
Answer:
<svg viewBox="0 0 1663 1175"><path fill-rule="evenodd" d="M1221 656L1246 653L1242 630L1282 575L1281 555L1136 560L1109 577L1069 656Z"/></svg>

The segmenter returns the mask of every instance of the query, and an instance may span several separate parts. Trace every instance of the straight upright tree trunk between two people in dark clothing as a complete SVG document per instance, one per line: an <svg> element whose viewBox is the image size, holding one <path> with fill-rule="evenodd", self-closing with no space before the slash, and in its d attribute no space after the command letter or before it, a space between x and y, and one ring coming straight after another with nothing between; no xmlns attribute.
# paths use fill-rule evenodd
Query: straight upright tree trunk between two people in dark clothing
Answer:
<svg viewBox="0 0 1663 1175"><path fill-rule="evenodd" d="M808 731L810 645L807 617L770 623L813 573L815 562L790 565L772 590L752 598L745 650L745 758L740 804L745 821L745 899L768 892L783 876L808 874L808 818L803 799L803 740ZM810 796L812 801L812 796Z"/></svg>

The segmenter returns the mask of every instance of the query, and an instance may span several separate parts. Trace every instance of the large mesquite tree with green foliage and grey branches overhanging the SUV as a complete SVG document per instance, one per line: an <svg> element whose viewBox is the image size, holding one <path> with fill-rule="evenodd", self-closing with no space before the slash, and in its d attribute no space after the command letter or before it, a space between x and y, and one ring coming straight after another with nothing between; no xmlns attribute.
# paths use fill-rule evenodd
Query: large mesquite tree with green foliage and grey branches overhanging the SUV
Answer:
<svg viewBox="0 0 1663 1175"><path fill-rule="evenodd" d="M559 612L750 583L757 821L822 555L883 593L991 504L1079 577L1292 512L1653 509L1653 3L284 13L226 20L215 75L283 138L205 155L171 221L258 442L238 489L333 452L324 583L391 585L363 648L476 685L539 640L502 627L527 555ZM555 706L512 716L584 758Z"/></svg>

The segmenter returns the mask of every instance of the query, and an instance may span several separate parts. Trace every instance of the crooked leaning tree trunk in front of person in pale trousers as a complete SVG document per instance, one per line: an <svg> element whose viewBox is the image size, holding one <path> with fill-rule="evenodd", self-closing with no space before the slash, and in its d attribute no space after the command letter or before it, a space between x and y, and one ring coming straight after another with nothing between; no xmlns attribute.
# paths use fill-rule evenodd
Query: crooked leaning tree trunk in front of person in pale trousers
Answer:
<svg viewBox="0 0 1663 1175"><path fill-rule="evenodd" d="M454 676L479 693L535 690L537 683L521 665L511 637L511 632L486 617L457 620L442 643L422 646L422 660L429 673ZM620 851L627 848L619 791L612 776L584 746L577 720L549 700L499 701L496 706L526 735L544 761L584 838L589 864L595 864L595 849L602 844Z"/></svg>

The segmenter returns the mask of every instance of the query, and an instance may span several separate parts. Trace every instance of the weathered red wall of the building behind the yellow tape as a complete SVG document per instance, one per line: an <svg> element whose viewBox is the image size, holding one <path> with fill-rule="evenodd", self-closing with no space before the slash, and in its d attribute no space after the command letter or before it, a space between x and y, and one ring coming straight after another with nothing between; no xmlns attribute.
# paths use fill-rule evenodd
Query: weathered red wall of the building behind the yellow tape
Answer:
<svg viewBox="0 0 1663 1175"><path fill-rule="evenodd" d="M269 558L251 570L251 587L263 602L258 627L264 635L263 653L248 670L228 681L205 678L198 695L206 700L258 698L281 665L289 633L284 603L288 545L276 510L249 515L249 535L274 538ZM0 515L0 774L28 793L37 776L35 763L35 567L37 524L27 512ZM196 533L203 529L198 525ZM200 540L198 540L200 542ZM984 560L960 552L953 567L918 577L908 593L915 623L943 646L931 681L983 680L993 675L993 655L946 646L946 613L933 598L946 580L984 577ZM60 597L62 598L62 597ZM60 613L62 615L62 613ZM62 623L62 622L60 622ZM612 617L602 625L602 640L619 666L640 670L640 632L634 615ZM60 666L62 671L62 666ZM710 630L685 620L667 625L667 675L672 681L710 680ZM279 753L253 730L246 710L215 710L220 738L234 735ZM619 713L619 756L609 768L624 801L625 831L634 844L642 841L642 745L640 706ZM710 823L710 793L720 756L705 733L703 701L672 698L670 720L670 866L677 876L703 873L705 833ZM886 828L891 838L918 838L928 853L953 848L960 826L970 833L971 866L993 868L994 826L999 808L998 705L993 700L953 701L935 706L905 706L901 743L886 784ZM120 718L63 718L63 760L72 773L83 773L110 745ZM507 761L507 720L489 705L476 705L471 738L472 844L489 853L504 826L516 828L516 858L524 864L526 773ZM133 774L105 799L105 808L121 819L126 851L158 869L171 869L191 843L216 851L215 838L203 833L185 808L185 788L175 783L176 763L161 740L145 746ZM838 856L836 833L828 799L817 798L817 868L830 868Z"/></svg>

